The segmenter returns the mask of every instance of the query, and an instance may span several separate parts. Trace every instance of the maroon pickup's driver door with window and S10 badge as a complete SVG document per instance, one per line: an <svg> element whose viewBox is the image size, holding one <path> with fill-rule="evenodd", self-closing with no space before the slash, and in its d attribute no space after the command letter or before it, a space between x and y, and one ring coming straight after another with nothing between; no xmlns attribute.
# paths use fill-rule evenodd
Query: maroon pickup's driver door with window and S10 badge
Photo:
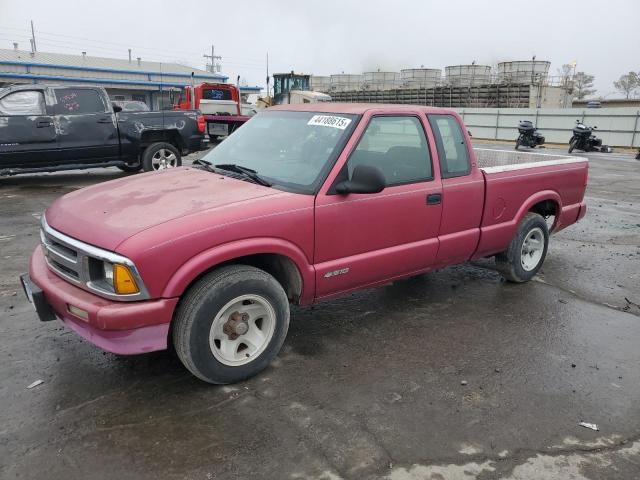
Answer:
<svg viewBox="0 0 640 480"><path fill-rule="evenodd" d="M387 187L337 194L332 186L318 195L317 298L424 271L435 261L442 185L434 180L424 122L418 114L370 116L332 185L362 164L379 168Z"/></svg>

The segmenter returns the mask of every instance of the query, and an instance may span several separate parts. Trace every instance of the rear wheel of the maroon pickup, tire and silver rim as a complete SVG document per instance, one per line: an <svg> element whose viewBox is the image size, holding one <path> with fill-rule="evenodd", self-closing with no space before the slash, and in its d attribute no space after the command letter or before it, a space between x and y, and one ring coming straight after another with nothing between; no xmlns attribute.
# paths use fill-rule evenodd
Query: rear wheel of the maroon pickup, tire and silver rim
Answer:
<svg viewBox="0 0 640 480"><path fill-rule="evenodd" d="M542 267L549 247L549 228L544 218L527 213L506 251L496 255L496 267L510 282L531 280Z"/></svg>

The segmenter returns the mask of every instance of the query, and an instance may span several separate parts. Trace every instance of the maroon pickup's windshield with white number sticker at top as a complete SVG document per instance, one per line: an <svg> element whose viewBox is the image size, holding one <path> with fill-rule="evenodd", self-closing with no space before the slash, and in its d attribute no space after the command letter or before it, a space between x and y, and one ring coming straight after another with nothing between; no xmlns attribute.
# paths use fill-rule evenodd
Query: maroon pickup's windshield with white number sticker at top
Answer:
<svg viewBox="0 0 640 480"><path fill-rule="evenodd" d="M265 111L209 152L212 165L250 168L272 187L313 194L333 166L357 115Z"/></svg>

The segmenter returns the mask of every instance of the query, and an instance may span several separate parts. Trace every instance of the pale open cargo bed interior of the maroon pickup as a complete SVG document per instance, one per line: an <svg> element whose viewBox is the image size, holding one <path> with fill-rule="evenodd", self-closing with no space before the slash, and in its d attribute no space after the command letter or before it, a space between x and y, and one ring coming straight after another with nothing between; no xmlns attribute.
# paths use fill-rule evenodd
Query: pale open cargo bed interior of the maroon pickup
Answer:
<svg viewBox="0 0 640 480"><path fill-rule="evenodd" d="M584 157L571 155L552 155L518 150L492 150L488 148L474 148L474 151L478 168L488 174L535 167L588 163L588 160Z"/></svg>

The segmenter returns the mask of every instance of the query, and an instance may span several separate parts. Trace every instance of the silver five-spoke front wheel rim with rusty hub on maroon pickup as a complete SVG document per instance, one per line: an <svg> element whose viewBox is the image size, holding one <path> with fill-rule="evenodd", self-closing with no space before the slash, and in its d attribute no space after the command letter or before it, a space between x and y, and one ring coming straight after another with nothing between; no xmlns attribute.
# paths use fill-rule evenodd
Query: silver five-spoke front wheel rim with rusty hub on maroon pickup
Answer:
<svg viewBox="0 0 640 480"><path fill-rule="evenodd" d="M275 309L267 299L259 295L236 297L213 319L209 348L224 365L246 365L265 351L275 325Z"/></svg>

